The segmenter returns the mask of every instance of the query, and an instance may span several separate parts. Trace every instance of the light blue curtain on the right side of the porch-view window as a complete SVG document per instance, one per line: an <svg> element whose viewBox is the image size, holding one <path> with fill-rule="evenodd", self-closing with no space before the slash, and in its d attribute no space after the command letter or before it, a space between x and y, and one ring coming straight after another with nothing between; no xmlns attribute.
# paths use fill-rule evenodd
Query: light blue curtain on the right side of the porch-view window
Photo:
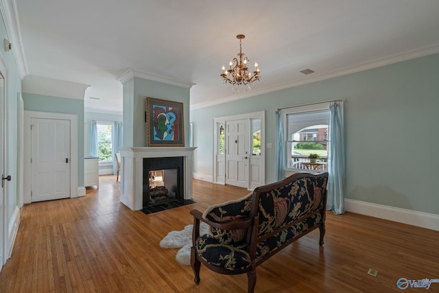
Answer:
<svg viewBox="0 0 439 293"><path fill-rule="evenodd" d="M327 209L336 215L344 213L344 121L343 102L329 104L329 154Z"/></svg>

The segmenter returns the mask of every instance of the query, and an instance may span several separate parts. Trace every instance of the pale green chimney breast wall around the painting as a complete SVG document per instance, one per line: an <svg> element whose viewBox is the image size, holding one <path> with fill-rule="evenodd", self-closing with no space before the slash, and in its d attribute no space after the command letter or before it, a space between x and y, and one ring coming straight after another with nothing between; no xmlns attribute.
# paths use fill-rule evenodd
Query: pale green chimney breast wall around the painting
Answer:
<svg viewBox="0 0 439 293"><path fill-rule="evenodd" d="M146 97L183 103L185 145L189 146L189 89L143 78L132 78L123 84L123 146L147 146Z"/></svg>

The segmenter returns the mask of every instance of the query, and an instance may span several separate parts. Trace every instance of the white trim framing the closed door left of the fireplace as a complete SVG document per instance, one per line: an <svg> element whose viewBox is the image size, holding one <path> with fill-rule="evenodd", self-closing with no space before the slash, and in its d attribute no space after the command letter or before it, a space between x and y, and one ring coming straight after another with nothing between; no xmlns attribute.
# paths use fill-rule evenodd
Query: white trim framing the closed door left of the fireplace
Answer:
<svg viewBox="0 0 439 293"><path fill-rule="evenodd" d="M32 178L32 168L31 168L31 119L32 118L42 118L42 119L60 119L60 120L70 120L70 198L78 197L78 115L75 114L65 114L65 113L50 113L50 112L38 112L25 110L24 115L24 178L29 178L25 180L23 187L23 202L31 203L31 182Z"/></svg>

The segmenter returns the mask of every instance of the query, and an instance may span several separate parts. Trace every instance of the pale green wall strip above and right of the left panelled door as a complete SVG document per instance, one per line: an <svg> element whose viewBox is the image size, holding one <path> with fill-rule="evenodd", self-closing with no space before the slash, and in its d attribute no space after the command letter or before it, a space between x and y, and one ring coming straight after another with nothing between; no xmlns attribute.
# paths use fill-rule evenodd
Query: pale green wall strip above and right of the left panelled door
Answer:
<svg viewBox="0 0 439 293"><path fill-rule="evenodd" d="M78 115L78 186L84 186L84 100L23 93L25 110Z"/></svg>

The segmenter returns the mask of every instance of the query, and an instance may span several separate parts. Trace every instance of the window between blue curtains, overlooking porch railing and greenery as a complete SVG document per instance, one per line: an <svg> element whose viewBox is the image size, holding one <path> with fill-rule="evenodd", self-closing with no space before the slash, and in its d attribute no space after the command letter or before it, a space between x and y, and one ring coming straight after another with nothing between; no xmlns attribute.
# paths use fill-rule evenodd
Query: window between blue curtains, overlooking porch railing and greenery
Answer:
<svg viewBox="0 0 439 293"><path fill-rule="evenodd" d="M304 111L297 108L283 110L285 121L285 167L307 169L309 154L318 154L321 163L328 158L329 105L322 109L312 107ZM324 167L325 165L323 165Z"/></svg>

